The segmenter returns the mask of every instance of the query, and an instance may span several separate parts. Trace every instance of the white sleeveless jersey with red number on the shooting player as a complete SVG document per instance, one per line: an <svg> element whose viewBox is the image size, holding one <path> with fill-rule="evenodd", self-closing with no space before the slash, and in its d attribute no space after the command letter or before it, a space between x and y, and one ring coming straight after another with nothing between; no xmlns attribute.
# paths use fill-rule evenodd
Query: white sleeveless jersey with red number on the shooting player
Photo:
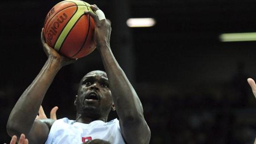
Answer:
<svg viewBox="0 0 256 144"><path fill-rule="evenodd" d="M119 120L109 122L95 120L89 124L62 118L51 126L45 144L81 144L88 140L102 139L111 144L124 144Z"/></svg>

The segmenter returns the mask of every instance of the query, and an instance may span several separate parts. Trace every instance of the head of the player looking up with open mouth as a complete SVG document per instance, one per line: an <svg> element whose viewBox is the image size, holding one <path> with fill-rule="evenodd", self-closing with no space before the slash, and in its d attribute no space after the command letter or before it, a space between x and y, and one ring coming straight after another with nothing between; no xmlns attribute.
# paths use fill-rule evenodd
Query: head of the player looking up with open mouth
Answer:
<svg viewBox="0 0 256 144"><path fill-rule="evenodd" d="M75 105L77 114L95 119L107 118L115 110L106 72L95 70L81 79Z"/></svg>

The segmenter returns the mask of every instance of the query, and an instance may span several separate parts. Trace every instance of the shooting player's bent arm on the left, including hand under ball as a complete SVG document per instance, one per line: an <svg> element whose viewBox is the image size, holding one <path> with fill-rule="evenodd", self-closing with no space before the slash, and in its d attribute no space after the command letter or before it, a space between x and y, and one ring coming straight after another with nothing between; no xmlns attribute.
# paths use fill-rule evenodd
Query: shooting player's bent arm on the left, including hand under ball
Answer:
<svg viewBox="0 0 256 144"><path fill-rule="evenodd" d="M49 134L49 125L35 120L42 100L55 75L64 65L75 60L59 55L54 49L45 43L43 32L41 33L42 45L48 56L45 65L34 81L24 91L7 122L7 132L9 136L24 133L30 143L44 143Z"/></svg>

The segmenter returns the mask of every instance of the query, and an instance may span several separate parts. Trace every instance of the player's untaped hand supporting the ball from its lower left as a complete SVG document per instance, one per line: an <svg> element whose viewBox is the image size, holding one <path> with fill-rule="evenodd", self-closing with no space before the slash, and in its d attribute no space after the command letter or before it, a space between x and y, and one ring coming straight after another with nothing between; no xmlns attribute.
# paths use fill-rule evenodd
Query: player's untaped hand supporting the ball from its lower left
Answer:
<svg viewBox="0 0 256 144"><path fill-rule="evenodd" d="M76 61L76 59L71 59L71 58L67 58L65 56L60 55L55 49L50 47L45 42L44 28L42 28L42 32L41 32L41 42L42 42L45 54L48 56L48 58L54 58L54 59L58 60L61 63L61 66L69 65Z"/></svg>

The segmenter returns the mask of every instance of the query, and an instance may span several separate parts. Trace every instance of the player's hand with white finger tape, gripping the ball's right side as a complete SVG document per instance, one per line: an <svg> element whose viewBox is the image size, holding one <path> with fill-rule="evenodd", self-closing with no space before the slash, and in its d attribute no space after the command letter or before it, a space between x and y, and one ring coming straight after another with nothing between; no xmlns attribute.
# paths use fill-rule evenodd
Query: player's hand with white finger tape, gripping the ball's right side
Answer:
<svg viewBox="0 0 256 144"><path fill-rule="evenodd" d="M102 19L102 15L96 14L96 11L99 10L99 8L96 5L91 5L90 8L93 10L93 12L85 11L84 13L90 15L94 19L94 41L96 42L97 49L100 49L102 48L102 46L106 45L110 46L111 22L105 19L105 16Z"/></svg>

